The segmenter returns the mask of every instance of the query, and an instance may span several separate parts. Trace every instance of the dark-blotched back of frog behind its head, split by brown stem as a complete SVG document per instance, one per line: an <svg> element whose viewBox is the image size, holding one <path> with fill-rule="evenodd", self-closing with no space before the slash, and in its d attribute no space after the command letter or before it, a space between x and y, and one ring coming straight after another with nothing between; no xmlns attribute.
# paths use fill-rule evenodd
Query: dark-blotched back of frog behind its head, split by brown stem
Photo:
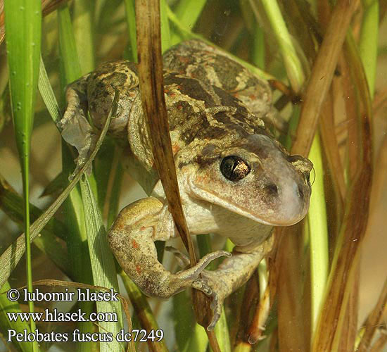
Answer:
<svg viewBox="0 0 387 352"><path fill-rule="evenodd" d="M166 70L164 90L174 153L190 148L194 151L197 144L221 144L223 139L243 138L265 130L262 120L239 99L206 82ZM151 168L153 156L144 113L136 111L129 116L129 144L141 163Z"/></svg>

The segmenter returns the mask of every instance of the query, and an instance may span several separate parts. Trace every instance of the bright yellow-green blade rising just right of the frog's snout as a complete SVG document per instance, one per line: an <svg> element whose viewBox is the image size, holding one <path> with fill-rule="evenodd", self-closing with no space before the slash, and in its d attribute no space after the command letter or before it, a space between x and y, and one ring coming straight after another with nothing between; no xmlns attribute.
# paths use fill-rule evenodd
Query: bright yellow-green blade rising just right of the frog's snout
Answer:
<svg viewBox="0 0 387 352"><path fill-rule="evenodd" d="M312 303L312 332L315 331L319 310L324 298L326 279L329 270L328 228L324 193L324 167L322 164L319 136L313 139L309 153L315 168L315 182L312 185L310 206L307 219L310 229L310 280Z"/></svg>

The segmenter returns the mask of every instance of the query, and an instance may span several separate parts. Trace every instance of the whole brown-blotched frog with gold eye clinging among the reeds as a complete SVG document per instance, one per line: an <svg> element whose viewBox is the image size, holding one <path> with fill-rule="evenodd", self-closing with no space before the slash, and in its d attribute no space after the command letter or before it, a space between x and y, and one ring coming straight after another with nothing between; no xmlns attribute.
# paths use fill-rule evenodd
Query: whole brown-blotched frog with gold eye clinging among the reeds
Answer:
<svg viewBox="0 0 387 352"><path fill-rule="evenodd" d="M110 111L115 89L118 113L109 132L153 179L150 196L123 208L108 231L108 244L122 270L147 296L162 299L197 289L210 296L215 327L224 299L253 275L272 249L272 229L300 222L309 208L312 163L291 155L272 137L262 118L272 111L265 80L226 52L200 40L172 46L163 54L163 84L182 208L191 235L215 234L234 244L213 251L191 268L170 272L158 261L155 241L178 236L157 179L137 65L104 63L68 86L68 106L59 122L63 138L79 151L77 165L94 145ZM87 120L89 113L94 124ZM141 179L141 177L139 177ZM224 257L216 270L205 270Z"/></svg>

